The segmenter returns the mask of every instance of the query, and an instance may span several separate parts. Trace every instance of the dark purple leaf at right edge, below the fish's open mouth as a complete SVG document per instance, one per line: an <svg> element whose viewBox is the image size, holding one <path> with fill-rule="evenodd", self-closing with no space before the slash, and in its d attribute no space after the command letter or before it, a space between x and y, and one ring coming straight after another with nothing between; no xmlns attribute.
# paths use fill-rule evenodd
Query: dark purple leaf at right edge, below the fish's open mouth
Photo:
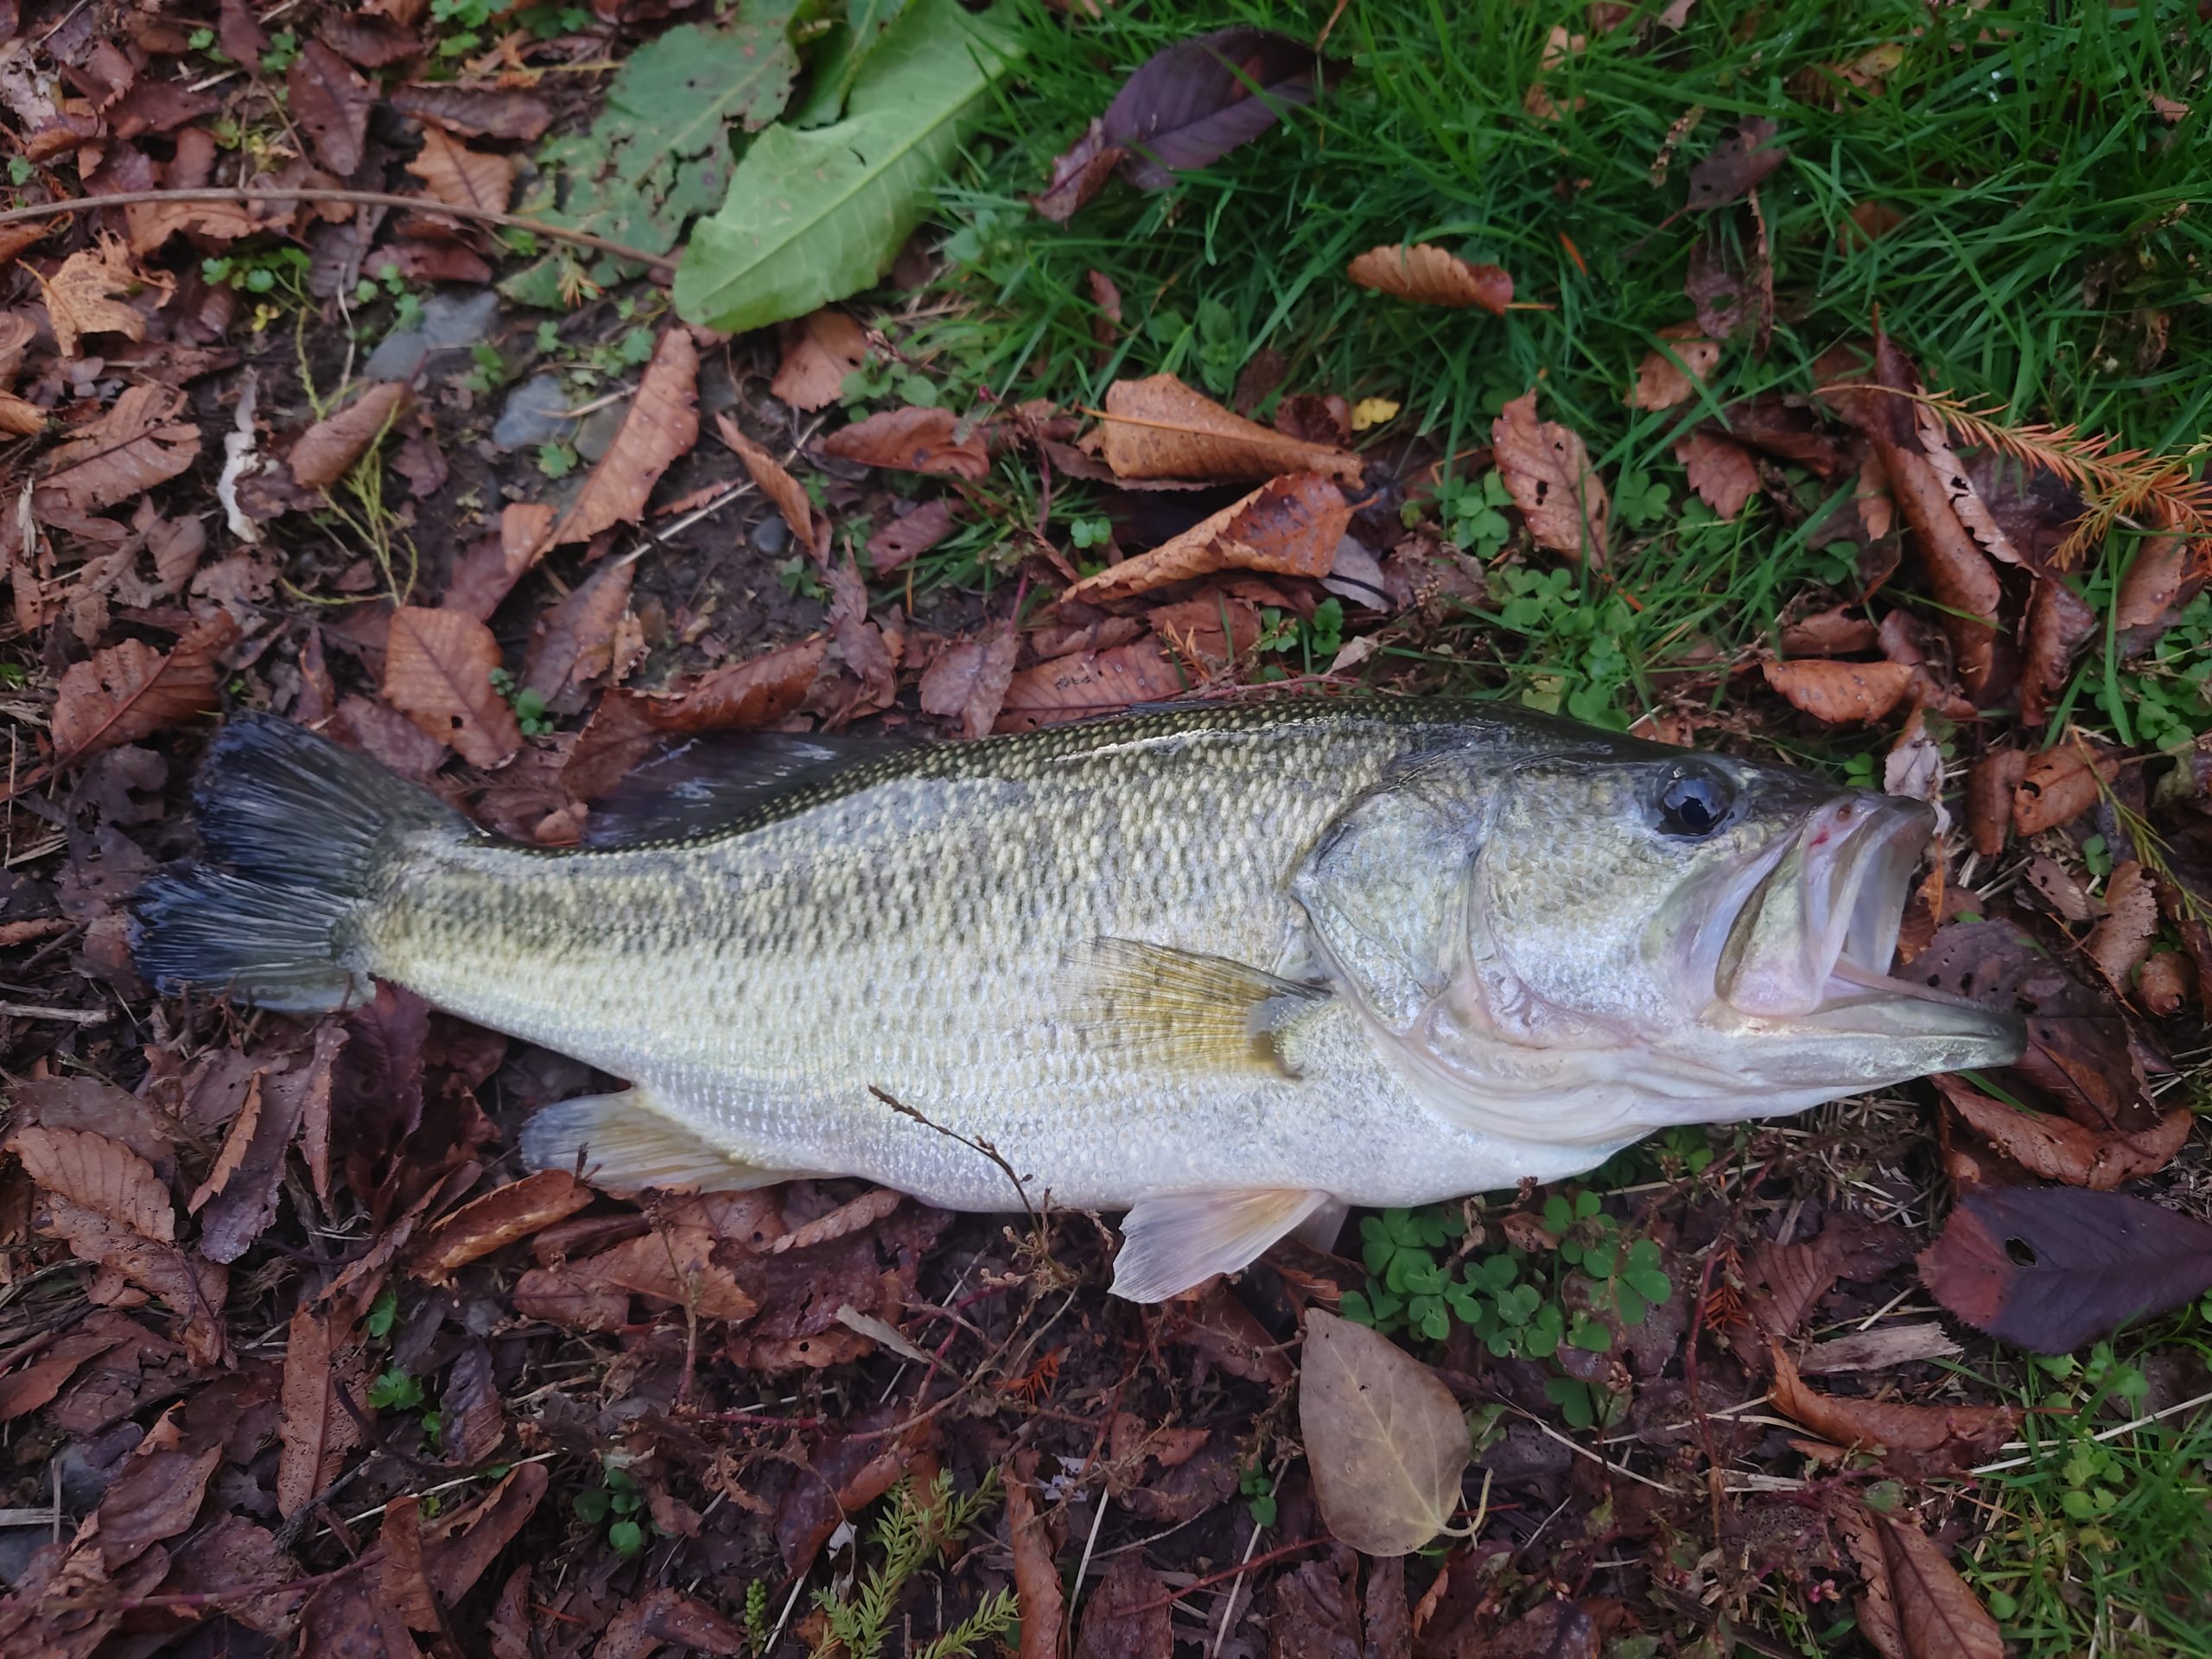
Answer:
<svg viewBox="0 0 2212 1659"><path fill-rule="evenodd" d="M1969 1325L2066 1354L2212 1287L2212 1225L2124 1192L1975 1188L1920 1281Z"/></svg>

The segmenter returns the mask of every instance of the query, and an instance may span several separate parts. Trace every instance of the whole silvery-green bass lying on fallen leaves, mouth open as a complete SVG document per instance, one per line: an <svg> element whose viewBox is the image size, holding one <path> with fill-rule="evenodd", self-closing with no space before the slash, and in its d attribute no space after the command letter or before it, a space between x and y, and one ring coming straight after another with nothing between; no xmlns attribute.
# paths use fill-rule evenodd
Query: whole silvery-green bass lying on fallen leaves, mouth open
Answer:
<svg viewBox="0 0 2212 1659"><path fill-rule="evenodd" d="M520 1150L613 1192L1119 1210L1130 1301L2024 1040L1891 973L1927 803L1478 701L761 734L582 847L241 714L197 818L133 907L159 991L383 980L588 1062L626 1086Z"/></svg>

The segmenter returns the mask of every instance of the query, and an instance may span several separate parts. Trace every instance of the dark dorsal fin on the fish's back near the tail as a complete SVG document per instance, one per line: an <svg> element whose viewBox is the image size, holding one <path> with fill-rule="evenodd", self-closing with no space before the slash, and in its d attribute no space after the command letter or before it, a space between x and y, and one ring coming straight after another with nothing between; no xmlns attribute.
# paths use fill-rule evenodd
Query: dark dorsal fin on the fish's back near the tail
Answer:
<svg viewBox="0 0 2212 1659"><path fill-rule="evenodd" d="M701 732L672 737L591 803L586 847L681 841L737 823L781 794L914 743L838 732Z"/></svg>

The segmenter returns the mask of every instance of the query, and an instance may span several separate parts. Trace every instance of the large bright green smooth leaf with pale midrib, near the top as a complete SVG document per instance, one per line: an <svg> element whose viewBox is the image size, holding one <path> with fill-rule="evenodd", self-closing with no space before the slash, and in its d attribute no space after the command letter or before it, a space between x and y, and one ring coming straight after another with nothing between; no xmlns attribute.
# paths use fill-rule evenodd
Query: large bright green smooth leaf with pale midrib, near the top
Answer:
<svg viewBox="0 0 2212 1659"><path fill-rule="evenodd" d="M677 314L737 334L874 283L1013 53L995 9L914 0L854 77L852 115L752 142L730 199L684 250Z"/></svg>

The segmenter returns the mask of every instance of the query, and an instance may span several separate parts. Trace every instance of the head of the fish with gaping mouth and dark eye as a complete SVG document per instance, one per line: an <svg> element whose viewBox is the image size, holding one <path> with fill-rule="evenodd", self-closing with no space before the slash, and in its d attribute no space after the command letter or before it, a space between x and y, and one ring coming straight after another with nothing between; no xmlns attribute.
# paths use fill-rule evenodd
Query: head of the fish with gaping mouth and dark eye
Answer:
<svg viewBox="0 0 2212 1659"><path fill-rule="evenodd" d="M1595 1146L2020 1057L2017 1015L1889 971L1922 801L1617 743L1369 814L1407 914L1301 898L1422 1093L1491 1133Z"/></svg>

